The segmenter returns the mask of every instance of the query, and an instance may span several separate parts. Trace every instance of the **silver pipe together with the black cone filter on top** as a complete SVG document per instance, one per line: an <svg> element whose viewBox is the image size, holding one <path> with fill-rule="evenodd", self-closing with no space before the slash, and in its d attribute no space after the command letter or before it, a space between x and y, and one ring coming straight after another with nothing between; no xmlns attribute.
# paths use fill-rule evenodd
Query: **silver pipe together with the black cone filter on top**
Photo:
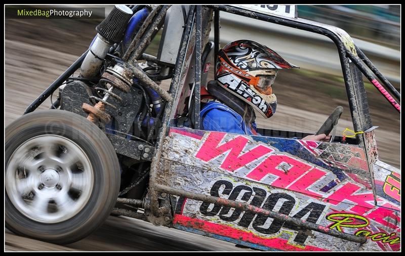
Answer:
<svg viewBox="0 0 405 256"><path fill-rule="evenodd" d="M80 66L80 76L92 78L97 75L110 47L123 39L132 14L132 10L126 5L115 5L108 16L96 27L97 38Z"/></svg>

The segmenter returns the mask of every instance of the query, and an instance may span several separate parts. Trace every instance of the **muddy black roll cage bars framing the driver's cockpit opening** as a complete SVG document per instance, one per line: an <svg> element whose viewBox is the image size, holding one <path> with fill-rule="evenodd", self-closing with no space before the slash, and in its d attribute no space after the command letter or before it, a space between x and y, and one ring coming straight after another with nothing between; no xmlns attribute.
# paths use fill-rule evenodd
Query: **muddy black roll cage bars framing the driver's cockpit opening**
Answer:
<svg viewBox="0 0 405 256"><path fill-rule="evenodd" d="M276 23L279 25L284 25L288 27L293 27L301 30L306 30L309 32L314 32L318 34L323 34L328 36L335 43L339 59L343 71L343 77L346 86L346 93L349 100L350 113L353 120L353 127L355 131L367 131L373 125L369 112L369 104L367 101L366 90L362 80L361 74L364 74L370 82L378 89L378 91L385 97L385 99L398 111L400 112L400 105L392 98L392 96L384 89L384 87L377 81L377 79L362 65L363 61L372 72L382 81L384 86L400 101L400 94L392 86L392 84L386 79L381 72L373 65L373 63L366 57L365 54L358 49L350 37L344 30L310 21L300 18L281 18L277 16L272 16L269 14L262 14L254 11L249 11L233 6L226 5L213 5L206 6L208 8L214 9L214 56L217 56L219 51L219 17L220 11L228 12L236 15L241 15L249 18L254 18L266 22ZM195 12L200 13L201 6L197 6ZM199 9L199 10L198 10ZM194 103L194 115L195 123L194 129L199 130L200 120L199 120L199 88L200 88L200 70L201 70L201 21L199 15L196 16L196 50L195 50L195 103ZM214 65L215 66L215 65ZM360 71L360 72L359 72ZM173 83L172 83L173 85ZM361 136L357 135L357 140L361 140Z"/></svg>

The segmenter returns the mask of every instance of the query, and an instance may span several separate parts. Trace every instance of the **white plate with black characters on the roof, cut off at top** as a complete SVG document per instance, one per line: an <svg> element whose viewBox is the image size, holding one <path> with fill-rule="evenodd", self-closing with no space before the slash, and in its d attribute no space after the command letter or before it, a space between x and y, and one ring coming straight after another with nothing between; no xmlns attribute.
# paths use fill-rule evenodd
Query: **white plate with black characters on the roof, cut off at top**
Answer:
<svg viewBox="0 0 405 256"><path fill-rule="evenodd" d="M295 5L230 5L258 13L281 16L286 18L297 18L297 7Z"/></svg>

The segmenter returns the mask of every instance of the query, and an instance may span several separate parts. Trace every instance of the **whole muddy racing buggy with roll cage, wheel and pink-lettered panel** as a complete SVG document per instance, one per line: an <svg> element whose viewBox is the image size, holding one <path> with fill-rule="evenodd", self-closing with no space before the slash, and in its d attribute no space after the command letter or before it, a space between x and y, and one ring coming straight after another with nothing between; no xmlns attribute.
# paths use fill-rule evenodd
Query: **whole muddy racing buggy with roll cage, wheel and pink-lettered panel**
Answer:
<svg viewBox="0 0 405 256"><path fill-rule="evenodd" d="M296 131L201 130L200 89L216 68L222 13L329 37L354 135L315 142ZM145 54L160 29L157 56ZM66 244L112 214L259 250L399 250L400 171L379 160L362 75L398 112L391 94L400 95L344 30L275 5L116 5L96 30L6 127L9 230ZM49 110L34 111L54 92ZM341 113L318 134L334 134Z"/></svg>

